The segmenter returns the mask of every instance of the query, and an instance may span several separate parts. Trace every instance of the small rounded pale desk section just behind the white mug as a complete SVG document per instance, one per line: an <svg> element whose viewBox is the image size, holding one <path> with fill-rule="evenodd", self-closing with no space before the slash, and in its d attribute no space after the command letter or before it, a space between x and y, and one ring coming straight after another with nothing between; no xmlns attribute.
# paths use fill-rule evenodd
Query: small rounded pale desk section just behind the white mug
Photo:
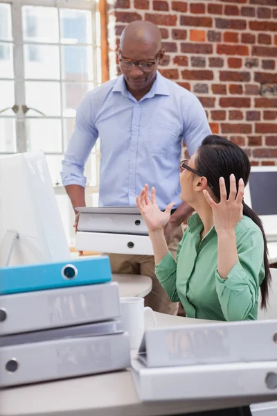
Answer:
<svg viewBox="0 0 277 416"><path fill-rule="evenodd" d="M120 297L145 297L152 289L152 279L149 276L114 274L113 281L118 282Z"/></svg>

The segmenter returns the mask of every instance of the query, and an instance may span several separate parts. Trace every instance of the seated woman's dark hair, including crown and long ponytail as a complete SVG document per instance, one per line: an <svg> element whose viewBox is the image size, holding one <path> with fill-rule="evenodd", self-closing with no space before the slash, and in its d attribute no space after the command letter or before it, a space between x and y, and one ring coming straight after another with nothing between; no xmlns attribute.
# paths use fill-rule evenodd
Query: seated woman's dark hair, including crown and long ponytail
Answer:
<svg viewBox="0 0 277 416"><path fill-rule="evenodd" d="M209 135L203 141L198 149L196 160L197 171L201 172L206 177L208 183L213 187L215 197L220 200L220 176L224 177L226 184L227 196L230 191L230 175L235 175L235 182L238 189L238 181L240 178L246 185L249 180L251 165L246 153L234 144L233 142L223 139L217 135ZM264 240L264 264L265 264L265 279L260 285L262 309L267 309L267 301L269 297L269 286L271 282L271 274L269 270L267 239L265 231L262 227L262 221L258 215L245 202L243 204L243 214L253 220L258 225L262 232Z"/></svg>

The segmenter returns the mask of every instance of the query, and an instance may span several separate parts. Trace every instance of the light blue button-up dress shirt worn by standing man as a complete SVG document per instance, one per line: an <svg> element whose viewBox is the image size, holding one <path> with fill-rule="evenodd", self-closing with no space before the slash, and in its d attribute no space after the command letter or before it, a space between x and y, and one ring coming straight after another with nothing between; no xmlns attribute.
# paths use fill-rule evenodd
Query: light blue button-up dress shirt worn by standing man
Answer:
<svg viewBox="0 0 277 416"><path fill-rule="evenodd" d="M62 161L62 184L85 187L84 164L100 137L99 205L136 205L145 183L160 209L181 204L182 141L192 155L211 129L204 108L188 90L161 76L136 101L123 76L87 93Z"/></svg>

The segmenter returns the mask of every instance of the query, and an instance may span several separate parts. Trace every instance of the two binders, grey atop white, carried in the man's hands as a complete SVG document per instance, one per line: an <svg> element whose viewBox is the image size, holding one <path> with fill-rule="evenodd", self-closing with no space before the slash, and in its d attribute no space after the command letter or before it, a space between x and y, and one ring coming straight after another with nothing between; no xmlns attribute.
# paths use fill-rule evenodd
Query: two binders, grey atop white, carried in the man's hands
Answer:
<svg viewBox="0 0 277 416"><path fill-rule="evenodd" d="M148 228L136 207L80 207L77 250L152 255Z"/></svg>

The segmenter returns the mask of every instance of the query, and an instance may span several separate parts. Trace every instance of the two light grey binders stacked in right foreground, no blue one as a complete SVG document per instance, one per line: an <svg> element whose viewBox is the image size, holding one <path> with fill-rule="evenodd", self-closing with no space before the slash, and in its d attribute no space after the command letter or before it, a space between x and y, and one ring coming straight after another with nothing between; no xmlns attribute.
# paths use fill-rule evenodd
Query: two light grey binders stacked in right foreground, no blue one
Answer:
<svg viewBox="0 0 277 416"><path fill-rule="evenodd" d="M277 320L149 329L132 374L142 401L276 399L276 344Z"/></svg>

